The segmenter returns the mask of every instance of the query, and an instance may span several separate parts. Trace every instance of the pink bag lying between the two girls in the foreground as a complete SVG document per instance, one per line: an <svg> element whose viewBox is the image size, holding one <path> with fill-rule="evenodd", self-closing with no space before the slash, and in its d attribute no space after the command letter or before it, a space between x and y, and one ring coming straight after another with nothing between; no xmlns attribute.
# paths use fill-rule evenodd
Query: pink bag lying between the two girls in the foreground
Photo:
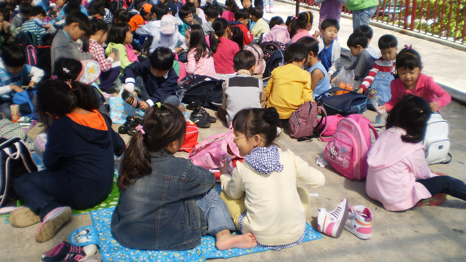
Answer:
<svg viewBox="0 0 466 262"><path fill-rule="evenodd" d="M213 139L212 142L209 141L211 139ZM240 156L240 150L234 143L232 124L230 124L228 133L210 136L194 146L188 158L191 159L194 165L202 166L206 169L217 169L220 166L220 153L222 151L227 152L232 160L235 158L244 158ZM230 155L229 152L233 152L233 155Z"/></svg>

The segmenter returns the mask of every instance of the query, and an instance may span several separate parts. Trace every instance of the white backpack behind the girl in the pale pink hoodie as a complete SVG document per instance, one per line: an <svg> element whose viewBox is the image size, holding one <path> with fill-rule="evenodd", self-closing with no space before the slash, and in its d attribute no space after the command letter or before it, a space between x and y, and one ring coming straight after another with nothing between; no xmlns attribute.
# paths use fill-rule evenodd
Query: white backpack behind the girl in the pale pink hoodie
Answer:
<svg viewBox="0 0 466 262"><path fill-rule="evenodd" d="M425 160L428 165L437 164L446 160L450 156L450 160L443 163L450 163L452 155L450 151L450 123L443 119L440 114L431 114L425 128L425 136L422 144L425 147Z"/></svg>

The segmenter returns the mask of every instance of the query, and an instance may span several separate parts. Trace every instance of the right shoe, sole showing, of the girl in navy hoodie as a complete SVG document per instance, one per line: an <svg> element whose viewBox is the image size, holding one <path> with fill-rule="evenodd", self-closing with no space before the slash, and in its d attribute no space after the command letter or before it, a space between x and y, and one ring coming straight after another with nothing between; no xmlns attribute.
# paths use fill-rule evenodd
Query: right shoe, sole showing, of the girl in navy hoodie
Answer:
<svg viewBox="0 0 466 262"><path fill-rule="evenodd" d="M60 213L50 218L48 221L42 222L34 234L35 241L38 243L43 243L52 239L57 233L58 229L60 229L62 225L69 220L70 217L71 208L66 207Z"/></svg>

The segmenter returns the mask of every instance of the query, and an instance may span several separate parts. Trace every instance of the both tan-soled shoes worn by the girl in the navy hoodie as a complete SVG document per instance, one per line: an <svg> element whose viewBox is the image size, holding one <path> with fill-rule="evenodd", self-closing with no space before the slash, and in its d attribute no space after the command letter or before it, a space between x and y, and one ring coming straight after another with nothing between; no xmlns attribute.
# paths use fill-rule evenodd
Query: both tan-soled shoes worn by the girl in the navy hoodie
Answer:
<svg viewBox="0 0 466 262"><path fill-rule="evenodd" d="M35 230L35 241L42 243L50 240L70 217L70 207L57 207L50 211ZM39 223L41 218L34 214L31 209L22 207L12 211L9 220L12 226L16 228L25 228Z"/></svg>

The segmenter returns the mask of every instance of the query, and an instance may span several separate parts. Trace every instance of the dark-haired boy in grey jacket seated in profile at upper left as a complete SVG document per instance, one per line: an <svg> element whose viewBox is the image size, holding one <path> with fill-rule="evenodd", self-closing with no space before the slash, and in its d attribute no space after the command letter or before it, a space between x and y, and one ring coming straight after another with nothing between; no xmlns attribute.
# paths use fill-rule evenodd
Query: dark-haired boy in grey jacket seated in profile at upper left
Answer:
<svg viewBox="0 0 466 262"><path fill-rule="evenodd" d="M82 14L81 11L76 10L66 16L65 27L58 30L54 41L52 41L52 49L50 51L52 71L54 69L54 62L60 58L73 58L76 60L92 59L92 55L81 52L81 47L76 43L83 34L89 31L89 28L89 18L87 15Z"/></svg>

